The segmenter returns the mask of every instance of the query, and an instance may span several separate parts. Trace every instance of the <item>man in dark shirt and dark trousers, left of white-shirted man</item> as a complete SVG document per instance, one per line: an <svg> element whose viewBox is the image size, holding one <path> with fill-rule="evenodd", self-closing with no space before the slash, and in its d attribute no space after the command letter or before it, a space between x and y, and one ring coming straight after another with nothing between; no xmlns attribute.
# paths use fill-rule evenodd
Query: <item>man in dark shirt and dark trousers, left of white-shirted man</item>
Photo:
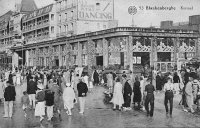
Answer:
<svg viewBox="0 0 200 128"><path fill-rule="evenodd" d="M145 95L146 95L146 99L145 99L145 109L147 111L147 116L150 115L150 117L153 117L153 112L154 112L154 92L155 92L155 88L154 86L151 84L151 78L149 77L147 79L147 85L145 86ZM151 109L149 111L149 104L151 106Z"/></svg>

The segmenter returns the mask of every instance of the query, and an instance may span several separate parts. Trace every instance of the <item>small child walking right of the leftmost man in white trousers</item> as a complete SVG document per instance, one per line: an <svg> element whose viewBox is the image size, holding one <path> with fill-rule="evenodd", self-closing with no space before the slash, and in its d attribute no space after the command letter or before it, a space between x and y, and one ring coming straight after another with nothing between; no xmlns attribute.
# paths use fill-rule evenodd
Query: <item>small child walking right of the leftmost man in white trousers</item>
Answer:
<svg viewBox="0 0 200 128"><path fill-rule="evenodd" d="M23 96L21 98L21 103L22 103L22 109L24 111L24 117L27 116L27 108L29 106L29 103L30 103L30 100L29 100L29 97L28 97L28 94L26 91L23 92Z"/></svg>

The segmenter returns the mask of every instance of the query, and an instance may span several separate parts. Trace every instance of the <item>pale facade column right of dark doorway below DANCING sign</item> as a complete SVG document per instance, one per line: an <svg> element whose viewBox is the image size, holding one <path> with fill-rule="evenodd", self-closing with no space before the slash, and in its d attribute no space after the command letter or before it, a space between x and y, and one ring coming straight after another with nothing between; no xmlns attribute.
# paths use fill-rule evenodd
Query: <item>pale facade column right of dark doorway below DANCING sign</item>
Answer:
<svg viewBox="0 0 200 128"><path fill-rule="evenodd" d="M103 38L103 66L108 66L108 41Z"/></svg>

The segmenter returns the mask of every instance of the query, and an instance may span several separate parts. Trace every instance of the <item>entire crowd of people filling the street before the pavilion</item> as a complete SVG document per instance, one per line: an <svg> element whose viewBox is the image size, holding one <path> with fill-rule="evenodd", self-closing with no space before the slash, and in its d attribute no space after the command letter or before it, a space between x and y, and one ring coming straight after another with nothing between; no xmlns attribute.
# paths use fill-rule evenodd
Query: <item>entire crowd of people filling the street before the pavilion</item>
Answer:
<svg viewBox="0 0 200 128"><path fill-rule="evenodd" d="M27 116L29 109L33 109L35 116L40 117L40 121L44 119L45 114L48 121L55 113L61 118L63 108L66 114L71 116L74 104L78 101L79 113L83 114L87 93L93 85L106 85L109 88L109 93L112 94L110 102L113 103L114 111L131 110L133 104L135 109L146 110L147 116L152 117L155 92L164 91L167 115L172 116L173 98L178 94L182 94L180 103L183 110L193 113L195 111L193 105L197 104L200 98L198 71L200 70L187 68L165 75L156 72L152 76L145 77L134 76L132 72L116 74L115 71L103 73L94 70L90 77L85 72L80 74L74 70L7 70L0 72L0 100L4 102L3 117L12 118L13 104L16 99L15 86L23 86L23 84L27 85L21 97L24 116Z"/></svg>

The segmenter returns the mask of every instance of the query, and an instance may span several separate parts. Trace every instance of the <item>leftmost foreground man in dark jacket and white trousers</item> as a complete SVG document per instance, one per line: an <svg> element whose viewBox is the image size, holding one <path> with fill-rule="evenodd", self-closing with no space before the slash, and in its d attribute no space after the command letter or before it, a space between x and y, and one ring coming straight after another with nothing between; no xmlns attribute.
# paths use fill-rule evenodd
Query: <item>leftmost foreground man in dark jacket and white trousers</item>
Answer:
<svg viewBox="0 0 200 128"><path fill-rule="evenodd" d="M12 118L13 115L13 102L15 101L16 91L15 87L7 81L7 87L4 92L4 118Z"/></svg>

